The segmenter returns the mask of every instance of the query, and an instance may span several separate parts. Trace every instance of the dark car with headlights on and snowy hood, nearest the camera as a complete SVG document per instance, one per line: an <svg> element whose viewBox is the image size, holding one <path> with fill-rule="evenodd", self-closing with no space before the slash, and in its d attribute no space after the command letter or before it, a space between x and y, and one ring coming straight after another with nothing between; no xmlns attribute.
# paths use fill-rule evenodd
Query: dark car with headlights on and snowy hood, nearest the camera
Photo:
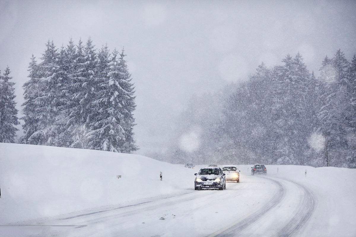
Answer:
<svg viewBox="0 0 356 237"><path fill-rule="evenodd" d="M194 180L194 189L210 189L217 188L219 190L226 189L225 174L218 167L201 168L199 173L195 173L197 177Z"/></svg>

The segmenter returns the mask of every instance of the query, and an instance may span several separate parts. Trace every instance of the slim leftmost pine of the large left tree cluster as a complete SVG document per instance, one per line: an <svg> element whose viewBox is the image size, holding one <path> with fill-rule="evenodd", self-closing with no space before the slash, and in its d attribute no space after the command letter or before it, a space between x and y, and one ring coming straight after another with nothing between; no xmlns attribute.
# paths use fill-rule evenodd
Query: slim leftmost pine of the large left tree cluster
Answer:
<svg viewBox="0 0 356 237"><path fill-rule="evenodd" d="M28 65L28 71L30 72L28 75L30 80L26 81L22 85L24 91L23 98L25 99L25 102L22 104L23 117L21 118L24 122L22 125L24 135L20 138L20 142L24 144L28 144L28 138L38 130L38 119L36 115L38 105L35 103L35 99L39 97L42 88L39 87L39 69L36 58L33 56L33 54L31 57L31 62ZM32 140L32 142L32 144L38 144L38 141Z"/></svg>

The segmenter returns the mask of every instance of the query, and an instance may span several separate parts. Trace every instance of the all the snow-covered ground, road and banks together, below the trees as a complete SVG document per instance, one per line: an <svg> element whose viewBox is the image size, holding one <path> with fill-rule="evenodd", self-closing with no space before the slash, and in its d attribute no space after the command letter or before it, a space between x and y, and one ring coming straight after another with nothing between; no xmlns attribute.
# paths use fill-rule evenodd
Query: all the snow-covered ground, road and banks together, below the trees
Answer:
<svg viewBox="0 0 356 237"><path fill-rule="evenodd" d="M0 236L356 236L355 169L250 167L195 191L199 166L0 143Z"/></svg>

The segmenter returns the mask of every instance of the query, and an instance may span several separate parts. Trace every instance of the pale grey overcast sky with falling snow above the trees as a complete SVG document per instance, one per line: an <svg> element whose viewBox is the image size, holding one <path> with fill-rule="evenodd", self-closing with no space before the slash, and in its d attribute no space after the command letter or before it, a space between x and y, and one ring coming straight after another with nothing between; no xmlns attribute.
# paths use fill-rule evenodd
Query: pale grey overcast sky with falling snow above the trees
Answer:
<svg viewBox="0 0 356 237"><path fill-rule="evenodd" d="M89 36L125 47L136 85L136 139L164 146L193 93L244 80L298 51L317 71L326 54L356 53L356 1L3 1L0 69L10 66L18 108L33 53ZM21 115L21 114L20 114Z"/></svg>

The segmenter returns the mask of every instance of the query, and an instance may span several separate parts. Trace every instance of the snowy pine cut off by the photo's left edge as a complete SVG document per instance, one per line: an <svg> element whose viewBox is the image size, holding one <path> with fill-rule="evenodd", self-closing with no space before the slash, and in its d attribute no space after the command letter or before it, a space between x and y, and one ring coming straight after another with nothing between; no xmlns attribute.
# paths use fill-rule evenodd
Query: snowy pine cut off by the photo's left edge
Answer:
<svg viewBox="0 0 356 237"><path fill-rule="evenodd" d="M15 142L15 125L19 125L15 108L14 82L11 82L10 69L7 66L4 75L0 75L0 142Z"/></svg>

